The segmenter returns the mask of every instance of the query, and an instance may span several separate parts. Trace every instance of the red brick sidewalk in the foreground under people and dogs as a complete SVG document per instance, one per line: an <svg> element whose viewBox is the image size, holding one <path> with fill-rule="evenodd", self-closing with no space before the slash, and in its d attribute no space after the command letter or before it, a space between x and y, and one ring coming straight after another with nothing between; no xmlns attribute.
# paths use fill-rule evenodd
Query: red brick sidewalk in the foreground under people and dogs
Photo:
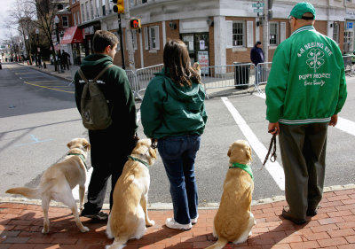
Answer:
<svg viewBox="0 0 355 249"><path fill-rule="evenodd" d="M304 225L295 225L281 216L286 201L252 206L256 217L253 235L241 245L225 248L355 248L355 188L327 191L320 203L319 214L307 217ZM106 210L107 212L107 210ZM215 241L212 237L213 218L217 209L200 209L199 220L192 230L170 230L164 225L172 210L149 210L155 221L141 239L131 239L126 249L137 248L205 248ZM43 235L41 206L33 204L0 203L0 249L77 248L101 249L113 240L105 234L106 223L91 222L81 217L90 231L81 233L73 215L66 207L50 208L50 233Z"/></svg>

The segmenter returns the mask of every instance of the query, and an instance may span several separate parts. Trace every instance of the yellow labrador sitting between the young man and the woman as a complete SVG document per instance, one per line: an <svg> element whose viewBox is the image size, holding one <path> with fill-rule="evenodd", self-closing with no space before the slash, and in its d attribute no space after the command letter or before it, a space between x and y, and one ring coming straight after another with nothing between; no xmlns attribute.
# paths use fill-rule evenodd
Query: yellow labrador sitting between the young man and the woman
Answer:
<svg viewBox="0 0 355 249"><path fill-rule="evenodd" d="M149 166L154 164L156 150L150 139L138 140L122 175L114 186L114 206L108 216L106 234L114 238L106 249L121 249L130 238L139 239L146 226L153 226L147 213L148 191L150 184Z"/></svg>

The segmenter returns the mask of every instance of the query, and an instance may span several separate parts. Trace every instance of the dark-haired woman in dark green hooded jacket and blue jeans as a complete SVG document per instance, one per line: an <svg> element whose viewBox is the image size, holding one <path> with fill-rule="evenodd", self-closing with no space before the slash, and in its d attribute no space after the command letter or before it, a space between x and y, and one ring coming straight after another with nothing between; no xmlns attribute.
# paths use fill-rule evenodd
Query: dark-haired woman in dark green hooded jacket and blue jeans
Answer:
<svg viewBox="0 0 355 249"><path fill-rule="evenodd" d="M171 229L190 230L199 216L194 161L207 121L205 92L185 43L166 43L163 63L162 71L146 88L140 106L142 125L146 136L158 141L170 181L174 217L165 224Z"/></svg>

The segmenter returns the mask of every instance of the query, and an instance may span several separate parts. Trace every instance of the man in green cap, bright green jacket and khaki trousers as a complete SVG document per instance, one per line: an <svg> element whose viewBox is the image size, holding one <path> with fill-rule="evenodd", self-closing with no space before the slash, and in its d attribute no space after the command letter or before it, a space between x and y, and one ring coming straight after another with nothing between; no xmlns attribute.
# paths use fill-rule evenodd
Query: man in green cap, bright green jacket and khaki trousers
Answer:
<svg viewBox="0 0 355 249"><path fill-rule="evenodd" d="M269 132L280 135L288 206L296 224L317 214L322 198L327 126L335 126L347 91L342 52L313 27L312 4L299 3L289 20L292 35L275 51L266 85Z"/></svg>

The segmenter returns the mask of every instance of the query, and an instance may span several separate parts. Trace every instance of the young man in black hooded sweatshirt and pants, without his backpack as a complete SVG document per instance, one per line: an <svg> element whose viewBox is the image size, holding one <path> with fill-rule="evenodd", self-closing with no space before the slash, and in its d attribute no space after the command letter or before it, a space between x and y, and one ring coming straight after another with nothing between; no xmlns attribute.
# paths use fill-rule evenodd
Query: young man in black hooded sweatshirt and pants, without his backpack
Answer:
<svg viewBox="0 0 355 249"><path fill-rule="evenodd" d="M94 54L83 59L81 69L86 79L94 79L102 69L113 64L118 45L117 37L108 31L98 30L93 38ZM81 97L85 81L75 74L75 101L81 112ZM89 129L91 143L91 166L93 167L82 216L107 220L107 214L100 212L106 194L106 185L111 176L112 190L110 208L113 206L114 185L122 174L127 156L133 150L137 125L136 105L126 73L118 66L111 66L98 80L110 110L112 124L106 129Z"/></svg>

